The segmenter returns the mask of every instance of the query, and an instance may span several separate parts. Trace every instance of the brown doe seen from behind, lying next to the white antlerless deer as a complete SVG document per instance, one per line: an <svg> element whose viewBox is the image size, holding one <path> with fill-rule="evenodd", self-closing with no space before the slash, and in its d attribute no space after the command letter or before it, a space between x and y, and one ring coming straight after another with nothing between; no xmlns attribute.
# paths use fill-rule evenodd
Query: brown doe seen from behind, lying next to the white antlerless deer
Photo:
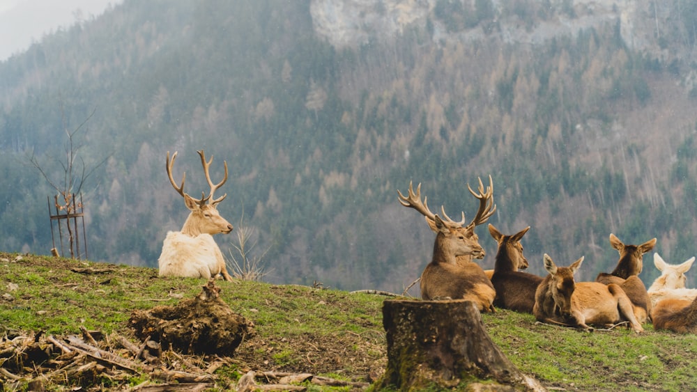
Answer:
<svg viewBox="0 0 697 392"><path fill-rule="evenodd" d="M639 278L643 269L644 253L651 251L656 245L656 239L648 240L641 245L624 244L614 234L610 234L610 244L613 249L620 253L617 267L613 272L606 274L601 272L595 278L599 283L609 284L615 283L620 285L622 290L625 290L627 297L634 304L634 315L636 320L642 324L648 320L651 313L651 299L648 295L648 290L643 281Z"/></svg>

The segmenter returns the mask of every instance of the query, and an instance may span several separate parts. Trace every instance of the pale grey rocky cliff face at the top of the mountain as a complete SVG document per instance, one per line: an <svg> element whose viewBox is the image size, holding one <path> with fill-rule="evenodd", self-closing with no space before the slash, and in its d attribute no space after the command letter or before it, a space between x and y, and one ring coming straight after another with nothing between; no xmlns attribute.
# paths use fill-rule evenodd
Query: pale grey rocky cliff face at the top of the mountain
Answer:
<svg viewBox="0 0 697 392"><path fill-rule="evenodd" d="M468 0L465 0L468 1ZM408 26L423 27L430 20L433 39L477 40L486 36L510 44L539 44L555 36L576 35L600 24L619 23L625 45L631 49L660 54L656 44L657 26L667 23L671 7L649 0L553 0L544 8L546 17L530 24L521 20L514 2L492 0L493 19L472 29L448 31L434 15L436 0L312 0L310 13L319 36L335 47L383 41L400 34ZM470 8L475 8L471 1ZM520 2L517 2L520 3ZM542 1L529 1L539 8ZM493 24L493 26L492 26ZM665 55L665 54L663 54ZM658 57L658 56L656 56Z"/></svg>

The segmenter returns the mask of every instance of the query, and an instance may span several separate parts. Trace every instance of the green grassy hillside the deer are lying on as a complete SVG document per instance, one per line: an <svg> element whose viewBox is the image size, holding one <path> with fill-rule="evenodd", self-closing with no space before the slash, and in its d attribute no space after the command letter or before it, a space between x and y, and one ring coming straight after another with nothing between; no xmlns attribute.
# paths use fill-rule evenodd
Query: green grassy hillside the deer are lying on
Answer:
<svg viewBox="0 0 697 392"><path fill-rule="evenodd" d="M80 327L140 342L128 327L132 311L174 305L201 291L200 279L160 279L157 270L105 263L0 253L0 367L10 338L79 334ZM346 382L374 382L386 364L385 332L379 295L331 288L220 281L220 295L255 325L234 356L187 357L200 368L222 363L213 372L215 388L226 390L250 370L312 373ZM684 391L697 382L697 336L624 327L592 334L537 324L532 315L498 310L483 316L493 341L523 373L552 390ZM183 356L180 356L183 358ZM29 369L31 370L31 368ZM4 391L24 390L31 371L10 379L0 372ZM158 383L142 375L85 386L125 389ZM358 386L317 386L309 391L346 391ZM70 382L45 385L68 390Z"/></svg>

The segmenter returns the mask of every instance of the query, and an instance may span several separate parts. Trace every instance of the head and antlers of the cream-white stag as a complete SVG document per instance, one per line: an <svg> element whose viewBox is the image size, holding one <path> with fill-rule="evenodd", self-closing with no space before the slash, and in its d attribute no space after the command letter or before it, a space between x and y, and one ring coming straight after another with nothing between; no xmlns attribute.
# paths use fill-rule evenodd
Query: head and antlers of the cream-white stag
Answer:
<svg viewBox="0 0 697 392"><path fill-rule="evenodd" d="M209 173L210 163L213 162L213 156L211 156L210 160L206 162L204 150L199 150L197 152L201 157L201 165L204 166L206 180L210 186L210 194L205 196L205 193L201 192L201 198L192 198L184 192L186 173L182 175L181 185L176 185L176 182L174 182L174 178L172 177L172 166L174 166L174 159L176 159L177 153L174 152L174 155L172 155L170 161L169 151L167 151L167 175L169 176L169 182L178 192L178 194L184 198L186 207L191 210L189 217L184 222L181 232L192 237L196 237L197 235L203 233L210 235L217 233L230 233L232 231L232 225L229 221L221 217L219 212L217 212L217 203L223 201L227 194L224 194L219 198L213 198L215 191L227 181L227 162L223 162L225 166L225 177L217 184L213 184L213 181L210 180Z"/></svg>

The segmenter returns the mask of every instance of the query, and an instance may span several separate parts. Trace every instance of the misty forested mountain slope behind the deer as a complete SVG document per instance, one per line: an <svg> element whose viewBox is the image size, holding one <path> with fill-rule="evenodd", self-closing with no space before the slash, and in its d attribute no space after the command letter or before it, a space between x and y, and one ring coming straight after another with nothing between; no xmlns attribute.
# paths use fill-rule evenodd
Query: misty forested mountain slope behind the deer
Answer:
<svg viewBox="0 0 697 392"><path fill-rule="evenodd" d="M431 207L471 219L467 184L490 174L489 222L531 226L532 272L542 253L585 256L592 279L617 261L610 233L682 262L697 254L695 21L682 0L127 0L0 63L0 248L51 248L55 192L29 157L61 178L65 131L89 118L92 260L156 266L187 216L165 155L197 194L204 149L213 178L230 169L219 210L254 228L274 283L401 292L434 235L397 189L422 182ZM227 253L235 232L216 240Z"/></svg>

